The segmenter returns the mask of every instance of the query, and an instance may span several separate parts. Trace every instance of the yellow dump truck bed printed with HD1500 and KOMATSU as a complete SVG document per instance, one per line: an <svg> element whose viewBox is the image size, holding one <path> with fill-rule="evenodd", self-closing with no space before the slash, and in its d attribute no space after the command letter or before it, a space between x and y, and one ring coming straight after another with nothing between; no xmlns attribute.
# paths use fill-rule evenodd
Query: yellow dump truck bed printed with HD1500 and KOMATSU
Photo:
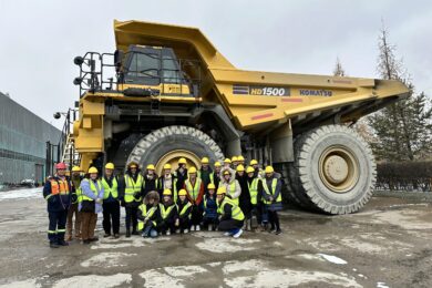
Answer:
<svg viewBox="0 0 432 288"><path fill-rule="evenodd" d="M357 121L408 95L399 81L239 70L196 28L115 21L114 30L117 49L162 45L199 59L203 102L222 103L236 127L249 133L288 120L294 128Z"/></svg>

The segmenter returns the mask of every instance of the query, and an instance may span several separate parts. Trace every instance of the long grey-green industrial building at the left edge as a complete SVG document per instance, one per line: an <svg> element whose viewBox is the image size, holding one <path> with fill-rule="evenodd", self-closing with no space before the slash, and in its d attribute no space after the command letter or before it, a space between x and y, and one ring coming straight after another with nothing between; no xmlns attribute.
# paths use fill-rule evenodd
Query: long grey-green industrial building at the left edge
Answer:
<svg viewBox="0 0 432 288"><path fill-rule="evenodd" d="M42 183L47 142L58 144L60 137L60 130L0 92L0 187L23 179Z"/></svg>

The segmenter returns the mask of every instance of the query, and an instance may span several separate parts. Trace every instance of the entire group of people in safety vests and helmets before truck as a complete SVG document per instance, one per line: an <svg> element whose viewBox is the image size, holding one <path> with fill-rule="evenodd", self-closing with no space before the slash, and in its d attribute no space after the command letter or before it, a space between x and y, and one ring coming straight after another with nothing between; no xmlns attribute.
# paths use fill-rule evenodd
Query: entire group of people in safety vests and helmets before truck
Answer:
<svg viewBox="0 0 432 288"><path fill-rule="evenodd" d="M132 162L125 175L119 176L114 164L107 163L102 177L95 167L82 177L76 166L68 177L66 165L56 164L56 174L43 188L50 247L68 246L72 230L83 244L99 240L94 229L101 212L104 237L119 238L121 206L126 213L126 237L202 229L225 232L235 238L245 229L281 233L277 213L282 208L281 179L271 166L263 171L251 160L245 167L243 156L215 162L213 167L203 157L199 169L187 167L186 160L179 158L177 166L173 171L165 164L158 176L153 164L143 172Z"/></svg>

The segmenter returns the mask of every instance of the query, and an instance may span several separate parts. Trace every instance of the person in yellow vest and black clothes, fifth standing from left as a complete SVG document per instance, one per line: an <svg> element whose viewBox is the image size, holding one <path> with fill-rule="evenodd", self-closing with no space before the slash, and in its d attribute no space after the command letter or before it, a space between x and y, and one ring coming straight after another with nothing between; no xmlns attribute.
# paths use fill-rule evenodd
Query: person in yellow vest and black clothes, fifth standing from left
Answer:
<svg viewBox="0 0 432 288"><path fill-rule="evenodd" d="M122 206L126 210L126 237L131 237L131 222L132 235L138 235L136 232L137 218L136 214L138 206L142 203L144 177L141 175L141 169L137 163L131 162L127 165L126 174L124 175L124 185L122 185L121 198Z"/></svg>

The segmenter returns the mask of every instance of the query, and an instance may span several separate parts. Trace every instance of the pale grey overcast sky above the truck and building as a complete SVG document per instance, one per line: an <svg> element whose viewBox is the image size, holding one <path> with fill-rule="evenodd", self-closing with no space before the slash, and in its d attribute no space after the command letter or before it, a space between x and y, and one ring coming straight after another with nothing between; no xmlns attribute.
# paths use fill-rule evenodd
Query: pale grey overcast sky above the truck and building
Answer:
<svg viewBox="0 0 432 288"><path fill-rule="evenodd" d="M113 19L198 27L237 68L377 78L381 19L416 91L432 95L431 1L0 0L0 91L48 122L78 100L72 60L113 52Z"/></svg>

